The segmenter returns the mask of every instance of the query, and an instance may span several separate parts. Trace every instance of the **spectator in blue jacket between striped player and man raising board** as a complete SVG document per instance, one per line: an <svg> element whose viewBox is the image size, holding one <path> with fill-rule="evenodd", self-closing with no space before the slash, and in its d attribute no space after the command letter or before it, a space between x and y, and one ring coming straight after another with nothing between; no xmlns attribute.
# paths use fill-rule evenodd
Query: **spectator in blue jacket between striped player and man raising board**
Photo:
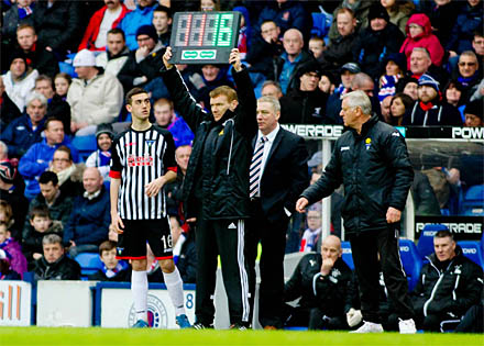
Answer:
<svg viewBox="0 0 484 346"><path fill-rule="evenodd" d="M182 116L176 116L173 102L168 99L160 99L153 104L153 113L156 124L168 130L175 141L175 147L191 143L194 133Z"/></svg>

